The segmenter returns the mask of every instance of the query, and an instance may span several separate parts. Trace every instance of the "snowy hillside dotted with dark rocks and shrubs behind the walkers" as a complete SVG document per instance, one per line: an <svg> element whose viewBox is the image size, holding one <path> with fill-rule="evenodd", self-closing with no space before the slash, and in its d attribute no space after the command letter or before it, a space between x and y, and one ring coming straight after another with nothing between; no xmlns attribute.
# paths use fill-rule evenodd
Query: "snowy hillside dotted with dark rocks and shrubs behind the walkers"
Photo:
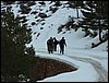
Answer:
<svg viewBox="0 0 109 83"><path fill-rule="evenodd" d="M10 7L7 5L7 8ZM62 32L59 33L59 27L66 24L70 20L73 19L74 24L77 25L77 19L76 19L76 10L70 8L70 4L68 1L60 1L59 2L51 2L51 1L15 1L11 4L12 12L14 12L14 15L21 19L21 22L23 24L26 24L28 28L31 27L33 33L33 42L32 45L37 48L38 45L41 45L41 47L46 47L46 40L52 36L60 39L62 36L64 36L68 40L68 44L70 47L78 47L78 48L90 48L92 43L99 43L98 36L95 38L92 38L89 36L85 36L85 32L83 32L83 28L78 28L77 32L74 32L75 28L60 28ZM1 8L4 8L4 5L1 5ZM27 10L28 9L28 10ZM80 12L80 17L82 19L83 14ZM78 19L80 20L80 19ZM92 31L93 32L93 31ZM97 31L98 32L98 31ZM102 34L105 34L107 31L104 31ZM41 43L41 40L44 43ZM70 44L72 40L72 44ZM86 42L85 44L84 40ZM41 44L39 44L41 43ZM76 45L77 44L77 45ZM106 45L106 44L105 44ZM80 47L81 46L81 47ZM107 46L105 49L106 50Z"/></svg>

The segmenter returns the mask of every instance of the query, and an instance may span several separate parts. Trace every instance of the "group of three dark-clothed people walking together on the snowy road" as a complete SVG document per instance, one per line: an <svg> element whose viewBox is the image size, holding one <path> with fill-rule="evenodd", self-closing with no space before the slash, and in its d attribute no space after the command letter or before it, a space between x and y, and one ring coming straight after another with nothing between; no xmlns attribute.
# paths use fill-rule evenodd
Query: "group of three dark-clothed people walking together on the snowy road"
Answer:
<svg viewBox="0 0 109 83"><path fill-rule="evenodd" d="M49 54L53 54L53 51L57 51L57 45L59 44L60 46L60 54L64 54L64 46L66 46L64 37L62 37L61 40L57 40L56 37L50 37L47 40L47 48Z"/></svg>

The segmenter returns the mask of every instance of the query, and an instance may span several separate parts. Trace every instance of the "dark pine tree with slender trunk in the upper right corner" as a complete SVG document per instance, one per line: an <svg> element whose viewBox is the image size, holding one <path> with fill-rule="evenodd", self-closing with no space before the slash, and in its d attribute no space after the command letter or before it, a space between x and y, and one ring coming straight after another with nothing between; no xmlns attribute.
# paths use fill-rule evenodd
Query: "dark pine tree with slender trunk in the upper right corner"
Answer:
<svg viewBox="0 0 109 83"><path fill-rule="evenodd" d="M101 31L106 28L108 21L108 10L106 5L107 1L86 1L83 7L82 13L84 15L83 21L80 21L80 26L85 28L85 32L89 29L99 29L99 40L101 42ZM102 22L102 24L101 24Z"/></svg>

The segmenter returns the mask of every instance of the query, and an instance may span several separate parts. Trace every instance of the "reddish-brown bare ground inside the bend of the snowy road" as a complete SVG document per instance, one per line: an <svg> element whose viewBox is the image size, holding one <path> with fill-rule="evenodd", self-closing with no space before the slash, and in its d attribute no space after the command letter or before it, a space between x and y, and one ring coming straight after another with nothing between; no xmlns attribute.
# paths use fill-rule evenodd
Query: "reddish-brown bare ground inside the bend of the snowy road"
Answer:
<svg viewBox="0 0 109 83"><path fill-rule="evenodd" d="M76 68L53 59L36 58L31 70L31 80L38 81L47 76L57 75L63 72L75 71Z"/></svg>

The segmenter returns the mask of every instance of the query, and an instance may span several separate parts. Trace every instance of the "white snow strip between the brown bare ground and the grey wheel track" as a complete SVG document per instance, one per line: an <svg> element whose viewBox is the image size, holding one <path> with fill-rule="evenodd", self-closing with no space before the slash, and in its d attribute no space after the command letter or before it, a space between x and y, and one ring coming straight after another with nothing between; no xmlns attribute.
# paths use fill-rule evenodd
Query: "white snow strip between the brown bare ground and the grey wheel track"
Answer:
<svg viewBox="0 0 109 83"><path fill-rule="evenodd" d="M63 61L78 69L77 71L61 73L59 75L47 78L37 82L95 82L98 78L97 72L89 63L76 61L68 56L59 56L57 52L55 52L55 55L37 52L37 56ZM86 75L86 78L84 78L84 75Z"/></svg>

